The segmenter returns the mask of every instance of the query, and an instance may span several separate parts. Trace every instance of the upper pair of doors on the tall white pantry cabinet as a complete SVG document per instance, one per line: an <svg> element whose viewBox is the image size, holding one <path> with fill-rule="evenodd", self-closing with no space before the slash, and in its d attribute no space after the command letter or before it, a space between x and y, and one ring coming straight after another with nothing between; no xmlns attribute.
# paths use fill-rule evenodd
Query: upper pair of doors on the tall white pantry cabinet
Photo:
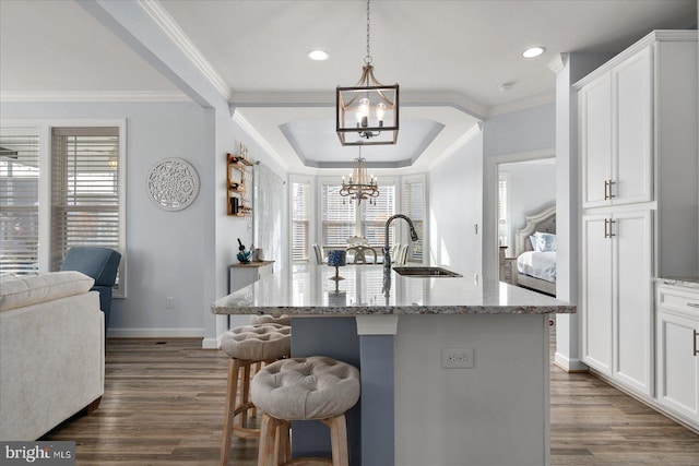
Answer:
<svg viewBox="0 0 699 466"><path fill-rule="evenodd" d="M585 208L651 201L651 64L647 46L580 91Z"/></svg>

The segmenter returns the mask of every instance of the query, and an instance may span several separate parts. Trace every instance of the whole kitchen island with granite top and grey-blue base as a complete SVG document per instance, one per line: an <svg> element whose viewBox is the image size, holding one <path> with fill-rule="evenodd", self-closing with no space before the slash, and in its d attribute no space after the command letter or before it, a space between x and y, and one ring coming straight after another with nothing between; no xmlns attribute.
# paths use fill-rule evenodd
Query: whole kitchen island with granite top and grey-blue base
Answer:
<svg viewBox="0 0 699 466"><path fill-rule="evenodd" d="M549 463L548 320L576 307L465 273L384 277L380 265L356 265L334 275L294 266L212 310L288 314L292 356L362 371L362 398L347 414L351 464ZM454 363L466 368L445 368ZM329 451L323 437L319 426L294 425L294 456Z"/></svg>

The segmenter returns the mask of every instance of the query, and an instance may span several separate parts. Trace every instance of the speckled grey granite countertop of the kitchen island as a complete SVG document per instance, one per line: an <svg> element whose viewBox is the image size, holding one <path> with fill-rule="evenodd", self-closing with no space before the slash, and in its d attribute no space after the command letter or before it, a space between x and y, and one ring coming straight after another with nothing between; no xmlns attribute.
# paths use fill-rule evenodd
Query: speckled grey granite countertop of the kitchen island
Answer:
<svg viewBox="0 0 699 466"><path fill-rule="evenodd" d="M452 270L451 267L447 267ZM382 265L334 267L294 265L225 296L215 314L365 315L365 314L548 314L574 313L576 307L501 282L463 277L405 277L391 271L383 292Z"/></svg>

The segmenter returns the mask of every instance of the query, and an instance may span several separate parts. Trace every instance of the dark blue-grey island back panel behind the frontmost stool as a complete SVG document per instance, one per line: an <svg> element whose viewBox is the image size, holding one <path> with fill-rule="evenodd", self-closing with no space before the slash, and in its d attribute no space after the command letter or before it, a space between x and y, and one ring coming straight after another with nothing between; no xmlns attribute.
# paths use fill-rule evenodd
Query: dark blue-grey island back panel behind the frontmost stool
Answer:
<svg viewBox="0 0 699 466"><path fill-rule="evenodd" d="M292 357L328 356L362 371L360 339L355 318L293 318ZM362 465L360 403L345 414L350 465ZM292 456L330 457L330 434L320 421L292 423Z"/></svg>

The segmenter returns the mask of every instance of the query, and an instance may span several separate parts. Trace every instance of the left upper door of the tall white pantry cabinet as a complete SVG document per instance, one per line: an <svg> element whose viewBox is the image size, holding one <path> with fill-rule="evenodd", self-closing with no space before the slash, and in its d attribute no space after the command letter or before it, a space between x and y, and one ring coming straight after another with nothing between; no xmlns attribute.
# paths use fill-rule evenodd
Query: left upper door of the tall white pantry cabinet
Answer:
<svg viewBox="0 0 699 466"><path fill-rule="evenodd" d="M580 89L580 154L582 206L608 205L606 181L612 177L612 80L605 73Z"/></svg>

